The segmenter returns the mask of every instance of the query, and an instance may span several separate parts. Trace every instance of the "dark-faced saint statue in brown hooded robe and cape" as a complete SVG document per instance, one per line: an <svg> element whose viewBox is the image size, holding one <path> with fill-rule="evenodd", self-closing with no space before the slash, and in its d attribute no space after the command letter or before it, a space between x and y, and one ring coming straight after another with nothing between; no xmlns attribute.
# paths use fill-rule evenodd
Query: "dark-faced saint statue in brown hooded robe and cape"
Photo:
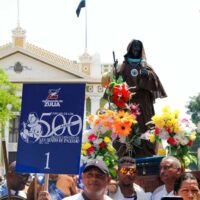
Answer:
<svg viewBox="0 0 200 200"><path fill-rule="evenodd" d="M155 99L164 98L167 95L157 74L146 62L144 47L140 40L132 40L128 44L124 61L117 67L115 73L116 76L122 76L123 80L131 88L131 92L134 93L131 102L139 106L140 115L137 116L137 121L139 134L142 135L150 129L147 123L151 121L152 116L155 114ZM132 155L120 140L116 140L114 146L118 151L119 157L125 155L148 157L156 154L156 143L152 144L143 139L139 147L134 147Z"/></svg>

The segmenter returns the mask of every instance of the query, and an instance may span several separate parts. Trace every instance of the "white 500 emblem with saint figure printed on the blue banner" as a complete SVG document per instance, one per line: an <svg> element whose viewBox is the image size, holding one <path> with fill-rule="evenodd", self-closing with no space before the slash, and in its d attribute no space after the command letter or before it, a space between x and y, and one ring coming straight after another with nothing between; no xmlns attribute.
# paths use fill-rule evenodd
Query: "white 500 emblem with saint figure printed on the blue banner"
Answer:
<svg viewBox="0 0 200 200"><path fill-rule="evenodd" d="M78 143L81 129L82 119L79 115L42 113L39 118L36 112L31 112L27 121L22 122L20 136L25 143Z"/></svg>

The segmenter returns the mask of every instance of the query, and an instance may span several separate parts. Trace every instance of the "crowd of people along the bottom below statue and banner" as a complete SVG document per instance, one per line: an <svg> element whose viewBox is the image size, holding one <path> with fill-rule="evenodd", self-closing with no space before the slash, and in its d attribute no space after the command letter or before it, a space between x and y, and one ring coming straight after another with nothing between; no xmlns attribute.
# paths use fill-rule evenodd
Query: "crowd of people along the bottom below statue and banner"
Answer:
<svg viewBox="0 0 200 200"><path fill-rule="evenodd" d="M127 156L119 159L115 180L111 179L103 160L90 160L81 175L82 189L77 186L77 175L50 174L48 189L44 191L42 179L30 179L29 174L17 173L15 167L16 162L12 162L6 178L1 182L0 199L8 197L10 192L22 200L200 200L197 178L192 173L184 172L180 161L173 156L161 160L160 179L163 185L152 193L146 193L135 183L136 161Z"/></svg>

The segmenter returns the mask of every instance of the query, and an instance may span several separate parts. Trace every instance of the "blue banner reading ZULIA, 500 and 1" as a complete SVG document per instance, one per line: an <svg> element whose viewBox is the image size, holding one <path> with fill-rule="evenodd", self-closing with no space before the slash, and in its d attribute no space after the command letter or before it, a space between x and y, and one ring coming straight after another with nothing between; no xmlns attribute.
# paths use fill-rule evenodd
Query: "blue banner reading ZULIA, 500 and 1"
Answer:
<svg viewBox="0 0 200 200"><path fill-rule="evenodd" d="M17 172L78 174L85 84L24 84Z"/></svg>

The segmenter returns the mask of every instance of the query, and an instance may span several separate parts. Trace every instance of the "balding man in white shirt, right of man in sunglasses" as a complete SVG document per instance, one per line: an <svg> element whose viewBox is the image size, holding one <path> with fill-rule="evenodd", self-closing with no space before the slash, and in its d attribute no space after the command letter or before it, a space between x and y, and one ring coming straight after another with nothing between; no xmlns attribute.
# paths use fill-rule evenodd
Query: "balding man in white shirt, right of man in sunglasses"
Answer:
<svg viewBox="0 0 200 200"><path fill-rule="evenodd" d="M164 157L160 162L160 179L164 185L161 185L154 190L151 200L173 196L174 183L181 173L181 163L177 158L173 156Z"/></svg>

